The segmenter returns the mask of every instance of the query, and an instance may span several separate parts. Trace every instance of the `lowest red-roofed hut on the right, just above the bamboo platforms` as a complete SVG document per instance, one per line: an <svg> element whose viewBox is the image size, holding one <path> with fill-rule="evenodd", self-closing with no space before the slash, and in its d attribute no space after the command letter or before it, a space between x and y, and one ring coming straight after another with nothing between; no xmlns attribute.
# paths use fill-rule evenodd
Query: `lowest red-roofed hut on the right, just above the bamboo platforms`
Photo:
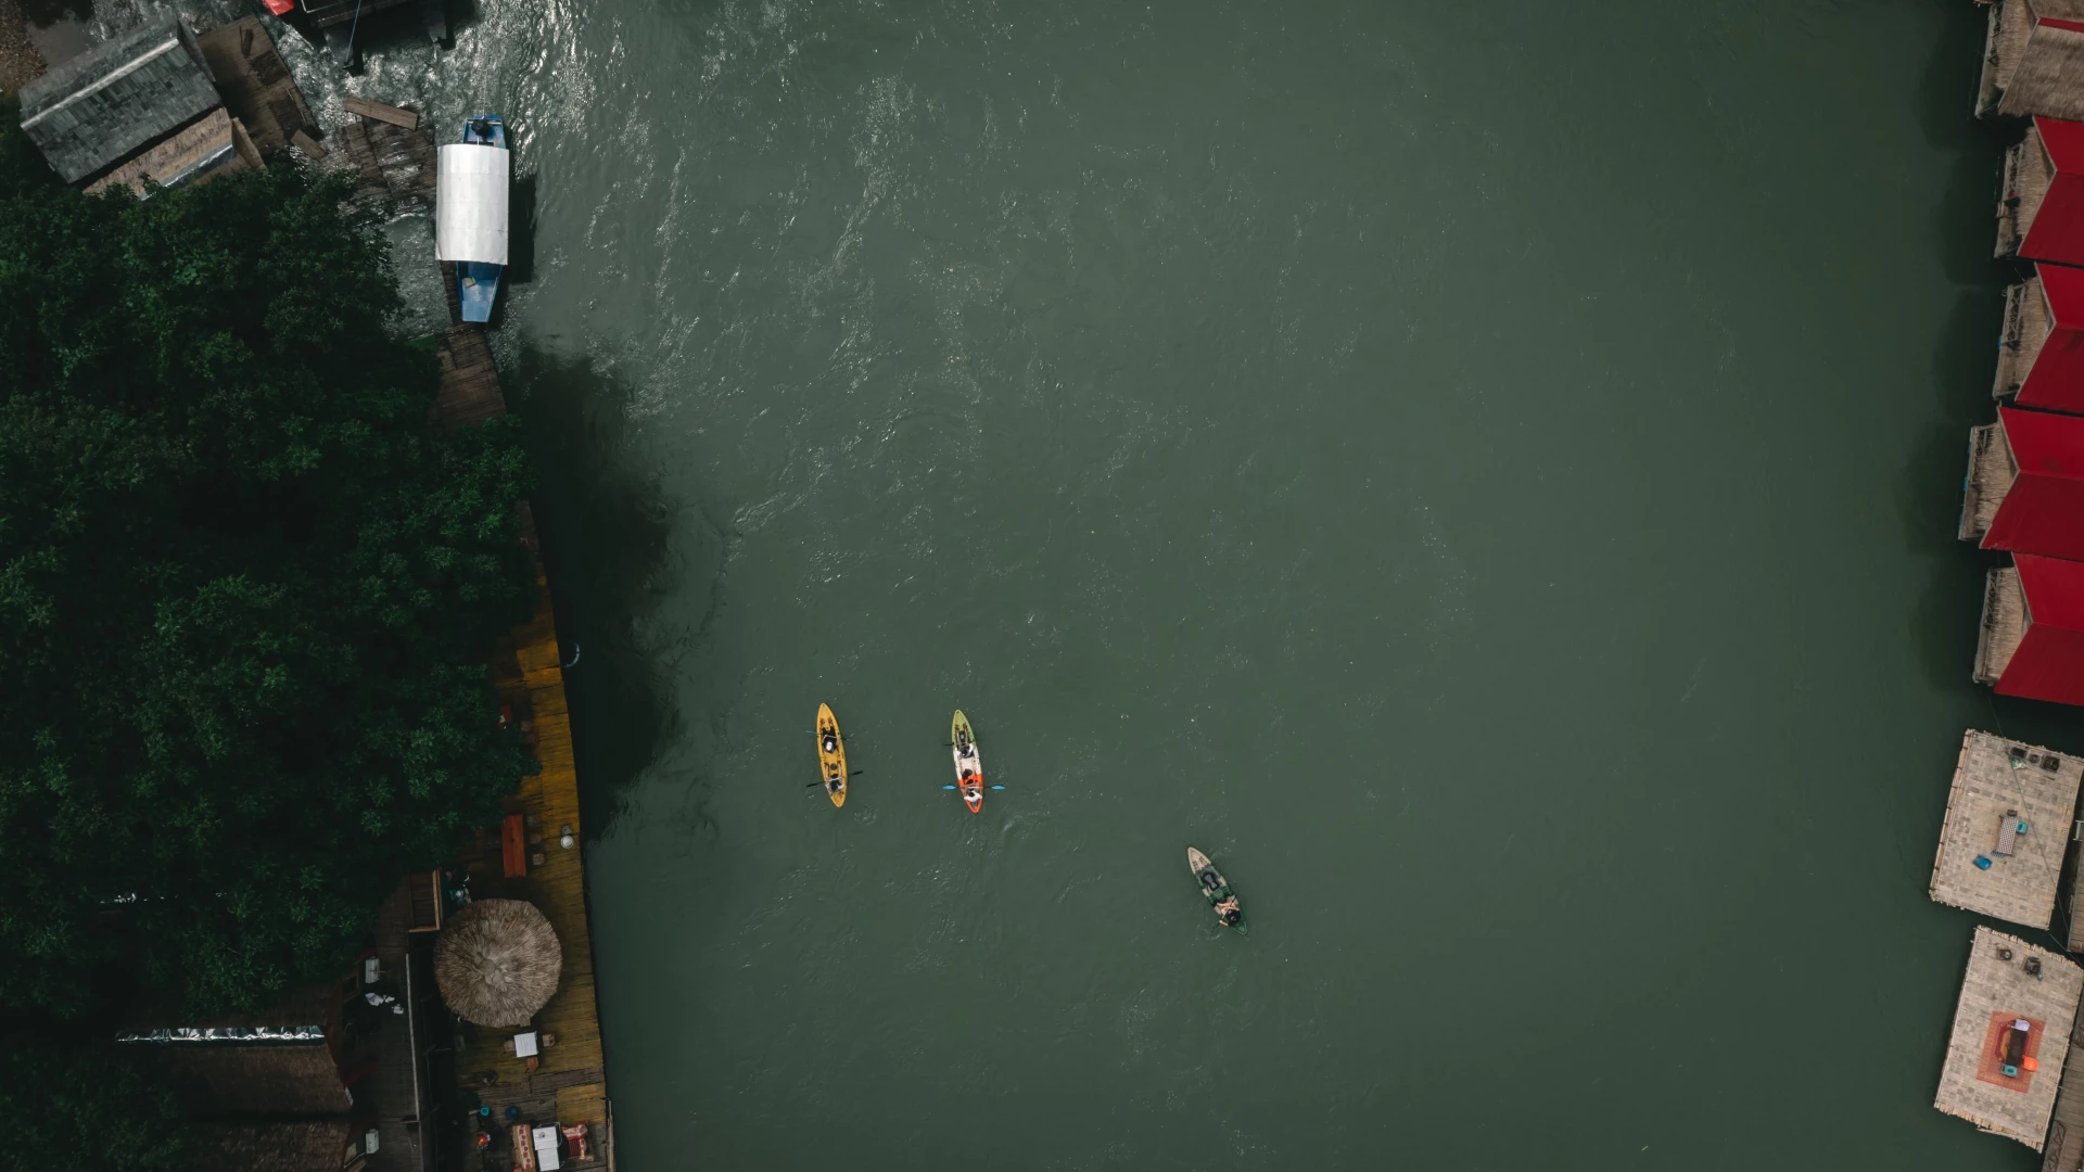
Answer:
<svg viewBox="0 0 2084 1172"><path fill-rule="evenodd" d="M2019 553L1990 571L1976 682L2005 697L2084 705L2084 563Z"/></svg>

